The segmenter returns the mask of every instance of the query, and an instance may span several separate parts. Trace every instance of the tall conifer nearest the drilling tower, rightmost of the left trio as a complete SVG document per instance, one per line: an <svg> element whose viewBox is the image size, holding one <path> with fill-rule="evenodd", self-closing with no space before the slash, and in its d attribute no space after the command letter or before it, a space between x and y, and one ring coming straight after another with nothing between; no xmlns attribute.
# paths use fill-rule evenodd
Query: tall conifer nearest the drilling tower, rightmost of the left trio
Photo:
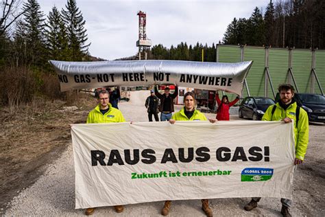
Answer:
<svg viewBox="0 0 325 217"><path fill-rule="evenodd" d="M71 52L71 60L80 61L88 54L89 44L86 29L84 25L86 21L82 16L82 12L77 8L75 0L68 0L67 10L62 10L62 17L67 26L67 36L69 41L69 49Z"/></svg>

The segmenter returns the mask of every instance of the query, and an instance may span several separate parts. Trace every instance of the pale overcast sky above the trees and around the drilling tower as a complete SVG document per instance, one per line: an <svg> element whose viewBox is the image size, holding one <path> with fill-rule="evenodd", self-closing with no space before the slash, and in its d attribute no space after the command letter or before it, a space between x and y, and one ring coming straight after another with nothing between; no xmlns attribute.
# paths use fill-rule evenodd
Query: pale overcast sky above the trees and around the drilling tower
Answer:
<svg viewBox="0 0 325 217"><path fill-rule="evenodd" d="M38 0L47 15L56 5L61 10L67 0ZM248 18L257 6L265 8L269 0L77 0L86 20L89 52L92 56L114 60L137 53L139 10L147 13L147 38L152 45L165 47L197 41L222 41L228 24L234 19Z"/></svg>

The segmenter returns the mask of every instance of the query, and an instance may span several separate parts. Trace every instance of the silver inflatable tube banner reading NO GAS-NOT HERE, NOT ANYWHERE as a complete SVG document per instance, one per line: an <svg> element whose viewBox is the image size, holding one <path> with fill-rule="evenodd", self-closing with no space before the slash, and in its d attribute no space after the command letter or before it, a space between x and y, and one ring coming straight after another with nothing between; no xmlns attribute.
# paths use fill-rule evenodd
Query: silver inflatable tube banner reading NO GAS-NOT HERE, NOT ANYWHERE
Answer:
<svg viewBox="0 0 325 217"><path fill-rule="evenodd" d="M134 87L176 84L179 87L222 90L241 95L249 62L191 62L130 60L102 62L49 61L55 67L61 91L97 87Z"/></svg>

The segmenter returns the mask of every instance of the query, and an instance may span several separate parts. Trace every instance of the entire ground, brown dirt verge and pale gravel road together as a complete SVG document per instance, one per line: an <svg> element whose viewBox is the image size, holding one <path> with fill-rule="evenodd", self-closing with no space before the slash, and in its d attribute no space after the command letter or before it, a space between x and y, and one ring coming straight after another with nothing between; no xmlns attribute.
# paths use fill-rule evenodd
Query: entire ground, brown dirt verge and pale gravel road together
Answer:
<svg viewBox="0 0 325 217"><path fill-rule="evenodd" d="M74 209L74 170L71 158L69 124L82 123L95 106L93 98L83 98L67 107L62 102L45 104L36 115L10 115L0 111L0 205L5 216L79 216ZM119 104L127 121L147 121L141 104ZM176 110L181 106L176 106ZM46 112L45 112L46 111ZM215 117L206 113L207 117ZM239 119L231 115L232 120ZM305 161L298 167L293 184L293 216L325 216L325 125L310 125L309 148ZM55 160L56 159L56 160ZM14 199L13 199L14 197ZM280 216L280 199L263 198L257 209L245 212L249 198L210 200L216 216ZM101 207L103 216L160 216L162 202L128 205L116 214L112 207ZM170 216L204 216L200 201L175 201Z"/></svg>

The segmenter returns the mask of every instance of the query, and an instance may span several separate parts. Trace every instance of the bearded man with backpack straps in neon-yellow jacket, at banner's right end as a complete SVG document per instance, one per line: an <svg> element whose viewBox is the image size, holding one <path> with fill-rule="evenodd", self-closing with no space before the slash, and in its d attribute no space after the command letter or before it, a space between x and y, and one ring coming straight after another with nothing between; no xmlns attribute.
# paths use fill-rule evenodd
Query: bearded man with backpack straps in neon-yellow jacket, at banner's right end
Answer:
<svg viewBox="0 0 325 217"><path fill-rule="evenodd" d="M294 122L293 131L295 134L296 141L296 159L294 161L295 165L299 165L304 161L304 155L306 154L308 140L309 140L309 120L308 115L304 109L298 107L295 100L293 100L294 89L291 84L281 84L278 88L280 93L280 100L274 106L269 106L267 111L262 117L263 121L280 121L282 120L285 123ZM299 111L298 111L299 109ZM297 120L296 117L299 113ZM298 121L298 122L297 122ZM252 201L245 205L244 209L250 211L257 207L258 201L261 198L252 198ZM281 198L282 208L281 214L283 216L291 216L289 208L292 201L286 198Z"/></svg>

